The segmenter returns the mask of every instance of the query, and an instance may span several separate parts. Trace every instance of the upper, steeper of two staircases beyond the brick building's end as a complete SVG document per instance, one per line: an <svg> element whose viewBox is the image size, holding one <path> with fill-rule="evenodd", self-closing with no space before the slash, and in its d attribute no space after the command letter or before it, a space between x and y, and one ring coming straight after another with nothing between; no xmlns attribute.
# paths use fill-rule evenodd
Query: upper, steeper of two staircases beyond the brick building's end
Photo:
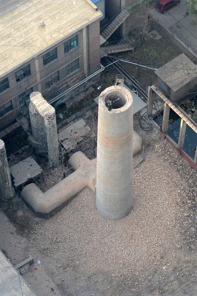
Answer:
<svg viewBox="0 0 197 296"><path fill-rule="evenodd" d="M118 11L118 13L111 19L102 29L100 35L107 40L123 23L123 21L130 15L127 9Z"/></svg>

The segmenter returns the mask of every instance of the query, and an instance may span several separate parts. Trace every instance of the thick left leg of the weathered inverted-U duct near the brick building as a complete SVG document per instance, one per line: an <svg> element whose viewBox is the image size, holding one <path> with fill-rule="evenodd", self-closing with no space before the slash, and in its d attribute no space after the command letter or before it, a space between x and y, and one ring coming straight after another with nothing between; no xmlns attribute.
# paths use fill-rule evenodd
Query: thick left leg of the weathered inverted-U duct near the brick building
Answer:
<svg viewBox="0 0 197 296"><path fill-rule="evenodd" d="M45 155L47 152L47 139L44 118L37 111L32 102L30 102L29 104L29 111L33 139L32 137L29 137L28 140L30 144L35 148L37 153Z"/></svg>

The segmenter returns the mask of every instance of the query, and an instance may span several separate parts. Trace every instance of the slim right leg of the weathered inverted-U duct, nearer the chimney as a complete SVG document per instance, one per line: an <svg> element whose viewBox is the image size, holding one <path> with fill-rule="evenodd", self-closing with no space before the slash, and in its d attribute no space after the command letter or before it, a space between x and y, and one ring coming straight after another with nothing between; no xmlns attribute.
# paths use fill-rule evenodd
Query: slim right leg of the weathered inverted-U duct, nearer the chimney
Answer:
<svg viewBox="0 0 197 296"><path fill-rule="evenodd" d="M57 168L59 166L59 142L57 136L57 124L55 109L50 106L44 113L46 138L48 147L48 165Z"/></svg>

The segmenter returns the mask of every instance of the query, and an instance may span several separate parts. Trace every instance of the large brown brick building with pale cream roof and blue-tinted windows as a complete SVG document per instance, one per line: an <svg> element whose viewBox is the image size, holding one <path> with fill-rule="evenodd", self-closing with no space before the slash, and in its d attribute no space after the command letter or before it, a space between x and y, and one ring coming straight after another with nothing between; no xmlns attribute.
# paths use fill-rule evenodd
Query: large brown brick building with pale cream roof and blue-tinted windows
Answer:
<svg viewBox="0 0 197 296"><path fill-rule="evenodd" d="M15 0L0 10L0 130L100 68L100 18L90 0Z"/></svg>

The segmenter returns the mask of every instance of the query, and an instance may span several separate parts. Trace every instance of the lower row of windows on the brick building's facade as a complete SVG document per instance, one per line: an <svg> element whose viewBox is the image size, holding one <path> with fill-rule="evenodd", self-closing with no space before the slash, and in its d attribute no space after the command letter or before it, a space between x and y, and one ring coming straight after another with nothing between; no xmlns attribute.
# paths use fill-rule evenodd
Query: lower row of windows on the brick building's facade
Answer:
<svg viewBox="0 0 197 296"><path fill-rule="evenodd" d="M69 65L65 67L66 76L75 72L79 69L79 59L71 62ZM50 88L52 85L56 84L59 81L59 71L56 73L48 76L45 79L45 86L46 88ZM30 94L33 92L33 87L27 89L22 94L18 96L20 106L28 106L30 103ZM5 103L4 105L0 106L0 117L4 116L7 112L13 110L12 101Z"/></svg>

